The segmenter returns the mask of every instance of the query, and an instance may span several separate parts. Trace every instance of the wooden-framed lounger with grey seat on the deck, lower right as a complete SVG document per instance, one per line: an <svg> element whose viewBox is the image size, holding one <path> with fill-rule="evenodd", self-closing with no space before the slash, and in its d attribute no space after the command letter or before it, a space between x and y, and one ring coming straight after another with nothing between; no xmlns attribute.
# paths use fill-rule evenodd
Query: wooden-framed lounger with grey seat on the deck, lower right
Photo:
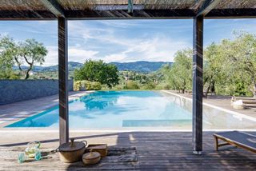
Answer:
<svg viewBox="0 0 256 171"><path fill-rule="evenodd" d="M215 149L225 145L234 145L236 147L249 150L256 153L256 136L243 133L240 131L230 131L225 133L214 133ZM225 143L218 143L218 139L225 141Z"/></svg>

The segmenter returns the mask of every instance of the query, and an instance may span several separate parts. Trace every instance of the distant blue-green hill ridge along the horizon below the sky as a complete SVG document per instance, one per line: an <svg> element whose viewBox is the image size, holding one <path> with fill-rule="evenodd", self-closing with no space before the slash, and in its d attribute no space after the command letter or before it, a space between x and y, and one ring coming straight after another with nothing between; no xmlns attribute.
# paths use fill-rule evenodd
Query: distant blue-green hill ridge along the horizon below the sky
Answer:
<svg viewBox="0 0 256 171"><path fill-rule="evenodd" d="M82 63L79 62L69 62L69 70L73 71L77 68L82 67ZM111 62L118 67L118 70L132 70L143 73L150 73L156 71L165 64L172 64L172 62ZM27 66L22 66L23 69L26 69ZM18 70L18 66L14 66L14 70ZM58 71L58 65L55 66L34 66L34 72L50 72L50 71Z"/></svg>

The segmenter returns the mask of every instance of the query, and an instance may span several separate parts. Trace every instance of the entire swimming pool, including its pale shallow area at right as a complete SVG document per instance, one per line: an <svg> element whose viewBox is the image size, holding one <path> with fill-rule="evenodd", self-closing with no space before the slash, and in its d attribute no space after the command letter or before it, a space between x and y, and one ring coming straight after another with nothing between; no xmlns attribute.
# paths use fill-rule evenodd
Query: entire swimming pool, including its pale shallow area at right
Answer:
<svg viewBox="0 0 256 171"><path fill-rule="evenodd" d="M70 128L191 129L192 103L162 91L97 91L70 101ZM204 106L204 129L254 129L255 121ZM58 128L58 106L6 127Z"/></svg>

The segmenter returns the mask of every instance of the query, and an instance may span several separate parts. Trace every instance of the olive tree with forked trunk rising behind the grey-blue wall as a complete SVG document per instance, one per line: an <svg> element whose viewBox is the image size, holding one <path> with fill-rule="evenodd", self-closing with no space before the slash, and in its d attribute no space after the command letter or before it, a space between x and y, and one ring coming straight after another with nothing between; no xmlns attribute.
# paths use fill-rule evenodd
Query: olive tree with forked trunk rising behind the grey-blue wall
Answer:
<svg viewBox="0 0 256 171"><path fill-rule="evenodd" d="M13 78L14 65L18 66L24 78L28 79L34 65L42 65L47 54L46 47L34 39L26 39L25 42L15 42L13 38L2 37L0 39L0 50L0 77L7 79ZM28 67L24 69L22 65Z"/></svg>

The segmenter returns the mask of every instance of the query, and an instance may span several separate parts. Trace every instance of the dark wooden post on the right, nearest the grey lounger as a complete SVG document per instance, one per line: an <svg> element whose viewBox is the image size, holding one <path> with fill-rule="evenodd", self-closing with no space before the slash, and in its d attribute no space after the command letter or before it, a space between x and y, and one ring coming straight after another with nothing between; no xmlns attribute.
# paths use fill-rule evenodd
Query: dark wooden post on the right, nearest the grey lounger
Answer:
<svg viewBox="0 0 256 171"><path fill-rule="evenodd" d="M202 51L203 17L194 18L193 42L193 153L202 153Z"/></svg>

